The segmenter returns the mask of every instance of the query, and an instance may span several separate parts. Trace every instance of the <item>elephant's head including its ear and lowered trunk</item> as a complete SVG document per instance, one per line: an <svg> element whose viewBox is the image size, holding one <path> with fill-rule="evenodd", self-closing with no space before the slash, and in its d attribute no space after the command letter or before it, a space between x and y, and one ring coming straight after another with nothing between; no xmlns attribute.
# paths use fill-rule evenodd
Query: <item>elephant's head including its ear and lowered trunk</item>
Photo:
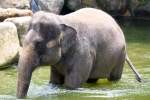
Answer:
<svg viewBox="0 0 150 100"><path fill-rule="evenodd" d="M37 12L25 36L18 63L17 97L27 94L32 72L41 63L56 64L76 41L76 30L58 15Z"/></svg>

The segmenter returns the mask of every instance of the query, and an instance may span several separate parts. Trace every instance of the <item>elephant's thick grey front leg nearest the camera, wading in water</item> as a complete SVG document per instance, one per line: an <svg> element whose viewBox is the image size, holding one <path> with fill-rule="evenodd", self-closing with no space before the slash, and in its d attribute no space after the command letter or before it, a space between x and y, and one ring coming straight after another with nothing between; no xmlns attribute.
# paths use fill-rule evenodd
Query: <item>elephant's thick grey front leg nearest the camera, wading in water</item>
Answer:
<svg viewBox="0 0 150 100"><path fill-rule="evenodd" d="M90 53L85 53L81 57L73 57L69 63L71 66L69 66L70 69L66 72L64 86L69 89L76 89L88 80L93 58Z"/></svg>

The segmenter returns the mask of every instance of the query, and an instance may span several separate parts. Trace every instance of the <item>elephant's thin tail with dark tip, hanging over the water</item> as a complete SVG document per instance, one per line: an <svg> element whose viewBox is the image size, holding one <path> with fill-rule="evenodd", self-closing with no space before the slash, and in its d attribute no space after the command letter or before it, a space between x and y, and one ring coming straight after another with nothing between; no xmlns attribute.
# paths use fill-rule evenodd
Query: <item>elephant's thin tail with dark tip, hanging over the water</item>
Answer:
<svg viewBox="0 0 150 100"><path fill-rule="evenodd" d="M142 81L142 78L140 76L140 74L138 73L138 71L135 69L134 65L132 64L131 60L129 59L128 55L126 54L126 62L128 63L128 65L130 66L130 68L132 69L132 71L135 74L136 80L138 82Z"/></svg>

